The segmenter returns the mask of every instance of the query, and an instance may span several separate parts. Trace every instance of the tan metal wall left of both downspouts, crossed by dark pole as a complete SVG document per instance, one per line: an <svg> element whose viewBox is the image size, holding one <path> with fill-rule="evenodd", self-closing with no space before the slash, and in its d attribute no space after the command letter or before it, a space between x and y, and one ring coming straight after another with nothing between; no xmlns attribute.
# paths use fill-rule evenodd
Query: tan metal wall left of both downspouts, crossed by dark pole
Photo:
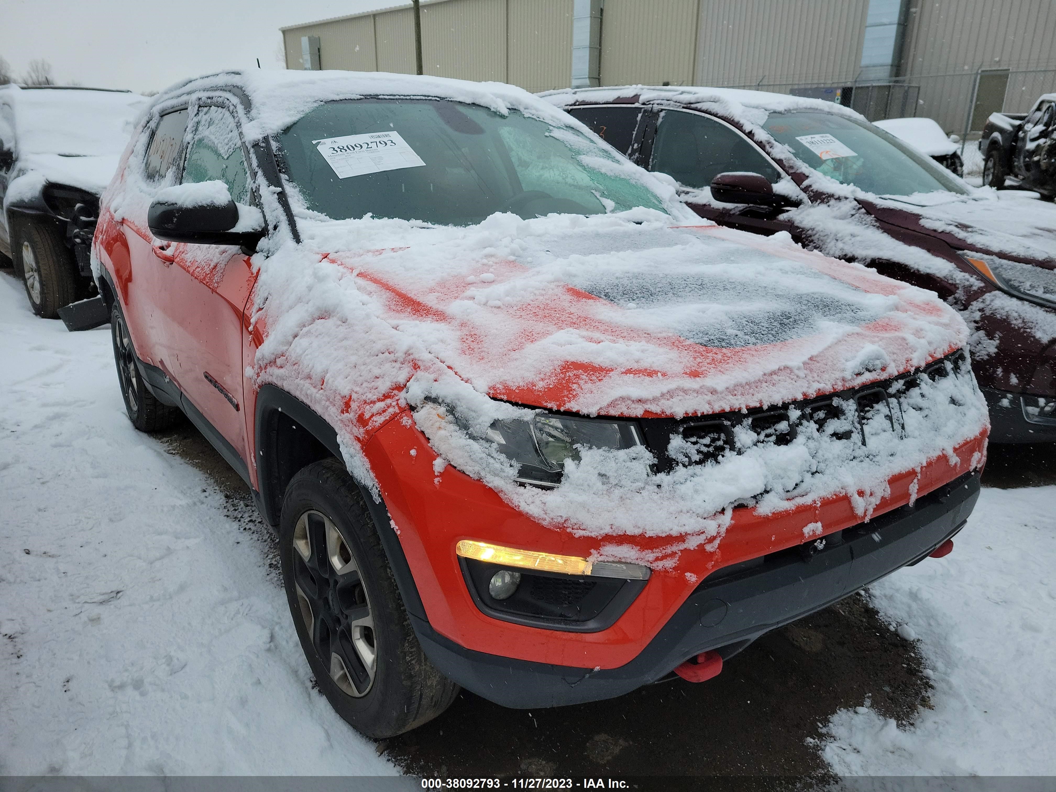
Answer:
<svg viewBox="0 0 1056 792"><path fill-rule="evenodd" d="M565 88L571 75L571 0L439 0L421 6L422 71ZM301 37L318 36L323 69L414 73L410 7L283 30L286 68L301 68Z"/></svg>

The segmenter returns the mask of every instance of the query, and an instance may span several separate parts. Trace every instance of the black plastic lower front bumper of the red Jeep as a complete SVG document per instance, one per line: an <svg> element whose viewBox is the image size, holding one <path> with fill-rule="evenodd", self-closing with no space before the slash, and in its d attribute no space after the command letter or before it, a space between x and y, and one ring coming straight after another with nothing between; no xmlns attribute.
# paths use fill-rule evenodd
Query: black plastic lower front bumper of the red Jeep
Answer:
<svg viewBox="0 0 1056 792"><path fill-rule="evenodd" d="M697 586L630 662L589 670L475 652L412 617L430 661L448 678L503 706L576 704L629 693L709 649L729 658L765 633L819 610L956 534L979 498L979 473L941 486L868 523L733 567Z"/></svg>

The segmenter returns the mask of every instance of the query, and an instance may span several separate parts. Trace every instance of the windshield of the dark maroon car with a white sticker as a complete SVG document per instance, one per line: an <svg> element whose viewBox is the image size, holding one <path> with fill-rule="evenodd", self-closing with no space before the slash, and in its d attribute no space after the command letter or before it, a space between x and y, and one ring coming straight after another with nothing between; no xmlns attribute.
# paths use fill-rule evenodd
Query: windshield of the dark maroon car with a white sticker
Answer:
<svg viewBox="0 0 1056 792"><path fill-rule="evenodd" d="M945 190L966 195L964 186L930 157L866 121L833 113L771 113L763 128L819 173L876 195Z"/></svg>

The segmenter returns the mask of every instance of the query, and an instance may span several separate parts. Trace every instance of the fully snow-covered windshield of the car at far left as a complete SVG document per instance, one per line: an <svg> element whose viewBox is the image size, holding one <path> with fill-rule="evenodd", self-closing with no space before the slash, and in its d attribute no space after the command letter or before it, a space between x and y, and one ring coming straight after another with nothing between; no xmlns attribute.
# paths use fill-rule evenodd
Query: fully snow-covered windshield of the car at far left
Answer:
<svg viewBox="0 0 1056 792"><path fill-rule="evenodd" d="M147 99L111 91L23 89L15 94L15 136L23 154L116 156Z"/></svg>

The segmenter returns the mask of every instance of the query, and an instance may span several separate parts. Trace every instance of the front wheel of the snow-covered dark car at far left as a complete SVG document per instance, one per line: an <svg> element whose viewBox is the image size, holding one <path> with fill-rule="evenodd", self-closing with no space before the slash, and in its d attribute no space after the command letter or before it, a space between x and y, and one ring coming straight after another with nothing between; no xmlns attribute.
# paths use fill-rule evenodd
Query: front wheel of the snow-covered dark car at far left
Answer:
<svg viewBox="0 0 1056 792"><path fill-rule="evenodd" d="M11 252L30 306L43 319L57 319L59 308L77 300L80 276L73 252L49 223L23 220L15 225L15 231Z"/></svg>

